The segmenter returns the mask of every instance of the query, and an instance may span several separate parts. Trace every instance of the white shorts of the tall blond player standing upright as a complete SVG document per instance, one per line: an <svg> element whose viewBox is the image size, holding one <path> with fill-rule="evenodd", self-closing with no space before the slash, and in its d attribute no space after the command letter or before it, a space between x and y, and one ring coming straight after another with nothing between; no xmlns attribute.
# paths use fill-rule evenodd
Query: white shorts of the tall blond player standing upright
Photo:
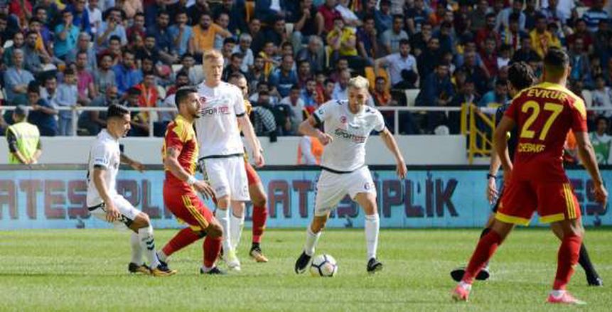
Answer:
<svg viewBox="0 0 612 312"><path fill-rule="evenodd" d="M204 161L204 168L217 198L229 195L230 200L251 200L244 158L208 158Z"/></svg>

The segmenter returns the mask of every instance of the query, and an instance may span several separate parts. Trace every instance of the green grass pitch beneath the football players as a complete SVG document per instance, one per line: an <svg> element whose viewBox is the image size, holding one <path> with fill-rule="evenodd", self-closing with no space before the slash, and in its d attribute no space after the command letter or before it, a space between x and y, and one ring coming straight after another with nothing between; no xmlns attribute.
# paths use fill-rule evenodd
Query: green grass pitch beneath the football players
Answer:
<svg viewBox="0 0 612 312"><path fill-rule="evenodd" d="M176 230L156 231L157 247ZM304 230L269 230L267 264L247 256L242 272L200 276L202 244L173 255L168 278L127 273L129 235L114 230L0 232L0 311L611 311L611 229L587 230L586 245L606 286L586 286L576 267L570 290L586 308L544 303L556 269L556 238L544 229L515 231L498 249L493 277L477 282L469 303L449 296L449 271L464 264L480 230L382 230L385 269L365 272L363 230L327 230L318 253L338 260L333 278L296 275Z"/></svg>

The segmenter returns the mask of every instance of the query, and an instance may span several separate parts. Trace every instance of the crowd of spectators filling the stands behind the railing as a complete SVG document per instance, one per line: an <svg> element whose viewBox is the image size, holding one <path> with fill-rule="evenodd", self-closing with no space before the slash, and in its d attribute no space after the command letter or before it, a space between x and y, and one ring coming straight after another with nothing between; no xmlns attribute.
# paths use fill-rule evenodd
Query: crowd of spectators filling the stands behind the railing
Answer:
<svg viewBox="0 0 612 312"><path fill-rule="evenodd" d="M26 104L44 136L95 135L104 113L60 107L173 107L205 77L218 49L223 79L242 73L258 135L296 135L318 105L347 99L351 76L368 104L495 107L508 64L537 73L552 46L571 55L569 87L612 109L612 29L603 0L0 0L4 105ZM173 112L134 112L131 136L163 134ZM74 117L77 120L73 120ZM612 110L590 114L609 121ZM385 112L392 128L392 112ZM458 133L459 114L404 112L402 134ZM0 118L0 129L11 124ZM150 121L154 127L151 129ZM73 125L76 124L76 129ZM446 131L439 131L443 127ZM607 130L606 130L607 131Z"/></svg>

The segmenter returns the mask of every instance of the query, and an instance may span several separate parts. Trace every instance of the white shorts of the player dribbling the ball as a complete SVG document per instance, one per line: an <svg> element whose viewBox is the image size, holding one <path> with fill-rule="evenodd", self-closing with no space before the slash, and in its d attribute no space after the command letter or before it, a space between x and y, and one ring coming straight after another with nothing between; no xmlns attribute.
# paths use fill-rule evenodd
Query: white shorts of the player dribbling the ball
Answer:
<svg viewBox="0 0 612 312"><path fill-rule="evenodd" d="M351 173L332 173L323 170L316 183L314 215L316 217L328 215L347 194L355 200L358 193L376 195L372 173L367 167Z"/></svg>

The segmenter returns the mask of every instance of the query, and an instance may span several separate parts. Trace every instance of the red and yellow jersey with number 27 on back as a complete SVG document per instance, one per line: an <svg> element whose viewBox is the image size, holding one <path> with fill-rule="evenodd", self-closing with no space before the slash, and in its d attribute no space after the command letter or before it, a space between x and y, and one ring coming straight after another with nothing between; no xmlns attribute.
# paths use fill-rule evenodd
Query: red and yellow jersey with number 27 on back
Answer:
<svg viewBox="0 0 612 312"><path fill-rule="evenodd" d="M516 123L513 175L536 181L567 181L563 147L568 131L584 132L584 101L562 85L544 82L522 90L505 112Z"/></svg>

